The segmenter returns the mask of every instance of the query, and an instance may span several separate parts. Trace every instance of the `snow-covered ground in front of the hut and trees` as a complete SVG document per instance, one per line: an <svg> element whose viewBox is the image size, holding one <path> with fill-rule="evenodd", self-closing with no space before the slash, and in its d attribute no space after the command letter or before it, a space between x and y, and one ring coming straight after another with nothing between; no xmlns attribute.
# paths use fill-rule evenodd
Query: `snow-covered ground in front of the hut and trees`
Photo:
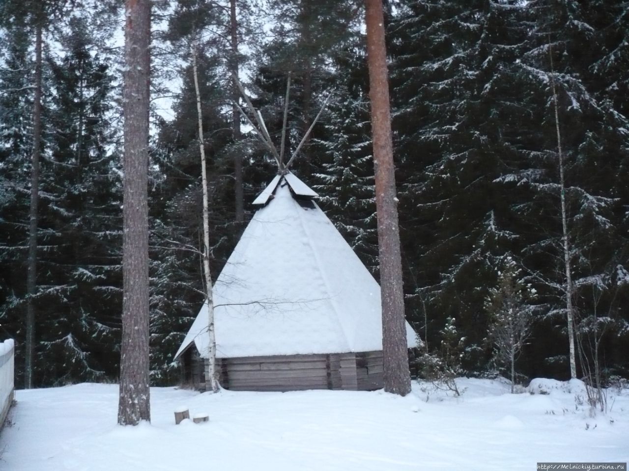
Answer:
<svg viewBox="0 0 629 471"><path fill-rule="evenodd" d="M610 389L611 411L592 418L579 382L535 380L536 394L481 379L459 386L460 398L418 384L405 398L153 388L152 423L138 427L116 425L114 384L18 391L0 435L0 469L469 471L629 460L629 391ZM210 421L175 425L182 405Z"/></svg>

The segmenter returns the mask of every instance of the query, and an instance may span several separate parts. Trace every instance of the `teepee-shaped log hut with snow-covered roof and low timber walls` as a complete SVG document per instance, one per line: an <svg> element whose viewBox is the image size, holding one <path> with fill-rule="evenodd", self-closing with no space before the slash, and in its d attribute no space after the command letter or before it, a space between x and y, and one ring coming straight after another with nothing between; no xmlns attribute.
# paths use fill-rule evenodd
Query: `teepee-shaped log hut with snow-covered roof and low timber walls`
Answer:
<svg viewBox="0 0 629 471"><path fill-rule="evenodd" d="M318 195L278 164L214 284L220 384L241 391L379 389L380 286L315 203ZM198 389L206 389L207 332L204 305L175 355ZM414 347L408 323L406 336Z"/></svg>

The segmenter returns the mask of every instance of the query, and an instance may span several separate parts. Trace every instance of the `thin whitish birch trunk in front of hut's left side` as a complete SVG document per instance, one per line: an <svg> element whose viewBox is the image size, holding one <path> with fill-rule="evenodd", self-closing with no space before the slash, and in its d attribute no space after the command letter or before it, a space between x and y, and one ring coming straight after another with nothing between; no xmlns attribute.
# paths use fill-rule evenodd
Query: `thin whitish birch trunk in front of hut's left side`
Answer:
<svg viewBox="0 0 629 471"><path fill-rule="evenodd" d="M194 73L194 92L196 93L197 116L199 125L199 154L201 155L201 185L203 185L203 275L205 278L205 302L208 308L208 377L209 388L218 393L216 379L216 336L214 335L214 300L212 296L212 274L209 271L209 215L208 215L208 175L206 173L205 143L203 139L203 113L201 112L201 92L197 73L196 44L192 44L192 72Z"/></svg>

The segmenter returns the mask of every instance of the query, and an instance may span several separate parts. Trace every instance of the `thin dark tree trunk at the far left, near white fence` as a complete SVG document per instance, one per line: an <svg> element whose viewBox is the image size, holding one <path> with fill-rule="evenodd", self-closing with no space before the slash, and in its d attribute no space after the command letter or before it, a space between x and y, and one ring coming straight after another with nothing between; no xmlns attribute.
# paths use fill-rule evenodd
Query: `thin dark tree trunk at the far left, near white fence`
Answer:
<svg viewBox="0 0 629 471"><path fill-rule="evenodd" d="M26 276L26 389L33 387L33 359L35 357L35 293L37 291L37 227L39 204L40 149L42 146L42 13L35 25L35 96L33 97L33 155L31 160L31 207L28 235L28 274Z"/></svg>

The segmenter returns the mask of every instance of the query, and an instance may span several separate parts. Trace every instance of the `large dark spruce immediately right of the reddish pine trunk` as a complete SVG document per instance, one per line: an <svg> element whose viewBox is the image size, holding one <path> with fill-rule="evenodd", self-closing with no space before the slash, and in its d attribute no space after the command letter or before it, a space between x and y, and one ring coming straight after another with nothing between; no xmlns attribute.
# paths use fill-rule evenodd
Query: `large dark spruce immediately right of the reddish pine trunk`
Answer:
<svg viewBox="0 0 629 471"><path fill-rule="evenodd" d="M472 345L482 342L486 318L477 306L496 257L518 238L494 183L517 159L508 138L519 132L521 110L508 67L525 28L509 21L514 5L413 1L390 28L411 309L437 326L457 317Z"/></svg>

